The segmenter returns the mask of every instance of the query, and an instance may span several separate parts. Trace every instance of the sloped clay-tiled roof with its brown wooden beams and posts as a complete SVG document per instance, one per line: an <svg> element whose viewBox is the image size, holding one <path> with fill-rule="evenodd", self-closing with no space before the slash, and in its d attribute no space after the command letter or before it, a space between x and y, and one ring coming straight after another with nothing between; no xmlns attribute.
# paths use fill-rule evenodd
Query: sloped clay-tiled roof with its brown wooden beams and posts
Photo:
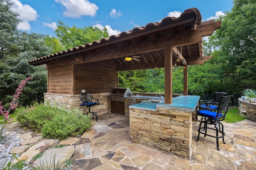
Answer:
<svg viewBox="0 0 256 170"><path fill-rule="evenodd" d="M37 66L58 65L66 62L77 64L101 64L116 71L165 68L165 104L172 103L172 66L179 59L184 66L184 92L188 94L188 65L203 64L212 56L203 56L202 37L212 35L221 22L202 21L198 9L185 10L179 18L166 17L160 23L148 23L131 31L112 35L109 38L74 47L59 53L29 61ZM140 56L140 61L124 61L127 56ZM75 70L75 68L72 68ZM77 72L73 72L76 77ZM118 82L118 78L116 80ZM73 83L75 84L76 81ZM72 94L77 93L73 84ZM49 87L49 83L48 83Z"/></svg>

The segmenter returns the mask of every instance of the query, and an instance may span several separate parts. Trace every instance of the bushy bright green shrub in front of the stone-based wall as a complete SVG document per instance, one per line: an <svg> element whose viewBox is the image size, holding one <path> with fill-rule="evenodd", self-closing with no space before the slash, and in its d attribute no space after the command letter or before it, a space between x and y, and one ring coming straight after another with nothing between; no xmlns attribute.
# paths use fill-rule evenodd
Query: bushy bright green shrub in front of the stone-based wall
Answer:
<svg viewBox="0 0 256 170"><path fill-rule="evenodd" d="M57 107L35 104L33 107L16 109L17 121L26 127L42 132L42 136L50 139L66 139L66 137L80 135L91 127L90 117L70 112Z"/></svg>

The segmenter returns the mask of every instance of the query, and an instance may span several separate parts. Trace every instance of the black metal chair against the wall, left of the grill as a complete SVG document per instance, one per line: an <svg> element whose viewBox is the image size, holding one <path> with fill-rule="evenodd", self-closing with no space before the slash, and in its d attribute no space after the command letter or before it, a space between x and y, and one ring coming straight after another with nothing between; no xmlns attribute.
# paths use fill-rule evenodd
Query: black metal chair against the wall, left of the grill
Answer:
<svg viewBox="0 0 256 170"><path fill-rule="evenodd" d="M96 121L98 121L97 113L96 112L91 112L90 108L95 106L95 105L100 105L99 100L94 99L91 96L91 93L81 93L80 100L82 101L82 103L80 105L80 109L81 109L81 106L89 107L89 111L84 113L84 114L86 114L86 115L92 114L92 118L94 118L94 116L96 116ZM97 102L92 102L92 100L97 100Z"/></svg>

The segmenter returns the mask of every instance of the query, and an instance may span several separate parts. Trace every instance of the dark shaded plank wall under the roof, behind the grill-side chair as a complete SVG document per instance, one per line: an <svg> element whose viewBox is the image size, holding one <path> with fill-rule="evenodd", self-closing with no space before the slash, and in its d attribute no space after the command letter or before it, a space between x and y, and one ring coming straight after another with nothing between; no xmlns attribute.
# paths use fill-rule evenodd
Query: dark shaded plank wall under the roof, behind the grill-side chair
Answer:
<svg viewBox="0 0 256 170"><path fill-rule="evenodd" d="M92 94L108 93L117 87L118 73L111 66L99 63L76 65L76 94L84 89Z"/></svg>

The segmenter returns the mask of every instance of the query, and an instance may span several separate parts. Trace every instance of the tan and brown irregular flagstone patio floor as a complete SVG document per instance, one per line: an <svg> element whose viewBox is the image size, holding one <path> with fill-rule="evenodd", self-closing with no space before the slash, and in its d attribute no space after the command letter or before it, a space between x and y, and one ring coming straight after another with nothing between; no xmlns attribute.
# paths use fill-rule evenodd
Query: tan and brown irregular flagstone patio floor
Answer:
<svg viewBox="0 0 256 170"><path fill-rule="evenodd" d="M24 130L17 123L7 128L20 133L20 146L12 149L13 153L22 153L19 158L30 162L44 149L44 156L38 159L51 158L53 153L57 154L56 159L69 159L73 155L73 170L256 170L256 123L250 120L224 122L226 144L220 140L219 151L216 139L212 137L200 135L196 142L199 123L193 122L190 161L132 143L129 140L129 116L107 113L99 115L98 121L94 117L92 123L93 126L80 138L68 137L62 141L42 140L41 134L32 137L29 128ZM57 151L46 150L53 143L64 147ZM24 145L29 147L25 152ZM35 160L33 166L36 167L38 162L40 160Z"/></svg>

